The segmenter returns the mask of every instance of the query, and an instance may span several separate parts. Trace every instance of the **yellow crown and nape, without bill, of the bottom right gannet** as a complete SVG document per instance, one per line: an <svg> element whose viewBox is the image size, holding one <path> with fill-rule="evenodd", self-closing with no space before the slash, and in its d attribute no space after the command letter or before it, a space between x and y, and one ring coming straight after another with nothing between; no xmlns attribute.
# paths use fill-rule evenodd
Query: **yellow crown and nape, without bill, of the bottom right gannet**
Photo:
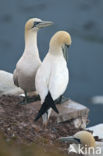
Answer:
<svg viewBox="0 0 103 156"><path fill-rule="evenodd" d="M77 132L74 135L74 138L79 139L80 143L83 146L85 146L85 145L87 145L88 147L95 147L96 146L95 139L94 139L93 135L90 132L87 132L87 131Z"/></svg>

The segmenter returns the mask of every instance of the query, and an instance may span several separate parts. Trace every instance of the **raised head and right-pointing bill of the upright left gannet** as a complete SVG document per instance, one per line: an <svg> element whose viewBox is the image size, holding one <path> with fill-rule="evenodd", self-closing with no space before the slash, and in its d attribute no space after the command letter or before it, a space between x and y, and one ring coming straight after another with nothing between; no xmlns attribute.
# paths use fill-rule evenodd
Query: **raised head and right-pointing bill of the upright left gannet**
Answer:
<svg viewBox="0 0 103 156"><path fill-rule="evenodd" d="M40 28L52 25L51 21L42 21L38 18L31 18L25 24L25 31L39 30Z"/></svg>

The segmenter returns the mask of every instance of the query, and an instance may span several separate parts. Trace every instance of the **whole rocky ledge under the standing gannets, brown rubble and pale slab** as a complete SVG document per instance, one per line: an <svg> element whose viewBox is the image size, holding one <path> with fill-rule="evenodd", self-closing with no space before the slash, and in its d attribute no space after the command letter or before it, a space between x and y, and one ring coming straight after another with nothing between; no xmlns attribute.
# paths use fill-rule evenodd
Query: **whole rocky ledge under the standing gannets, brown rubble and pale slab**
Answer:
<svg viewBox="0 0 103 156"><path fill-rule="evenodd" d="M19 96L4 95L0 97L0 131L7 139L15 138L19 142L36 142L45 139L54 144L61 136L73 135L85 128L88 122L88 109L69 100L57 105L60 114L52 112L48 126L42 125L42 119L34 122L40 102L27 105L18 104L22 100Z"/></svg>

